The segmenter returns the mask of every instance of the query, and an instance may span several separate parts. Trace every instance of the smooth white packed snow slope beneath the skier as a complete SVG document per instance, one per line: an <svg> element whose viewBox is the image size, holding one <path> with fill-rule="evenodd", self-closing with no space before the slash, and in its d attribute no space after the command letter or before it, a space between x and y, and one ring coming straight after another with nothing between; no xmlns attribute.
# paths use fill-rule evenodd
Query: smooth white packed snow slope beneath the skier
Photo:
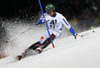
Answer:
<svg viewBox="0 0 100 68"><path fill-rule="evenodd" d="M55 40L55 48L49 45L41 54L20 61L14 55L1 59L0 68L100 68L100 28L79 34L84 36L77 40L73 36Z"/></svg>

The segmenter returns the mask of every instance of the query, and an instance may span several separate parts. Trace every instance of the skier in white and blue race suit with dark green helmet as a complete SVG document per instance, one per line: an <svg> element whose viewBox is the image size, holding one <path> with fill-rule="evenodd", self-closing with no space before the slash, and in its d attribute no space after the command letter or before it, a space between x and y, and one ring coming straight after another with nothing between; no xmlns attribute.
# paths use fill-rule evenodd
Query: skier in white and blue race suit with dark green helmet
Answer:
<svg viewBox="0 0 100 68"><path fill-rule="evenodd" d="M46 23L49 27L49 32L52 41L56 38L59 38L62 33L62 24L72 33L72 35L75 37L75 39L78 37L78 34L75 33L74 29L72 26L68 23L66 18L55 11L55 7L53 4L47 4L45 6L45 11L44 13ZM41 16L41 18L38 20L38 24L43 24L44 23L44 18ZM21 55L17 56L17 59L20 60L21 58L25 57L28 55L32 50L35 50L38 53L41 53L44 48L46 48L49 44L51 43L50 37L48 35L48 31L45 30L44 34L41 36L41 39L32 44L29 48L27 48Z"/></svg>

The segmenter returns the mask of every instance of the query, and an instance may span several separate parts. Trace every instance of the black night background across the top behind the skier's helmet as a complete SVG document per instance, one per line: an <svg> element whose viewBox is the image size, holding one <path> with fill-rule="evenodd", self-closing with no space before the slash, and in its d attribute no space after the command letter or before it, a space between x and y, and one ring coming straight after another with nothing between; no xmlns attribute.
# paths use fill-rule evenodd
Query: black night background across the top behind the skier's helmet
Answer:
<svg viewBox="0 0 100 68"><path fill-rule="evenodd" d="M84 10L89 9L96 14L99 10L94 10L93 6L99 8L99 0L41 0L43 9L47 3L52 3L56 11L62 13L67 18L77 16ZM38 0L0 0L0 18L32 16L40 11Z"/></svg>

